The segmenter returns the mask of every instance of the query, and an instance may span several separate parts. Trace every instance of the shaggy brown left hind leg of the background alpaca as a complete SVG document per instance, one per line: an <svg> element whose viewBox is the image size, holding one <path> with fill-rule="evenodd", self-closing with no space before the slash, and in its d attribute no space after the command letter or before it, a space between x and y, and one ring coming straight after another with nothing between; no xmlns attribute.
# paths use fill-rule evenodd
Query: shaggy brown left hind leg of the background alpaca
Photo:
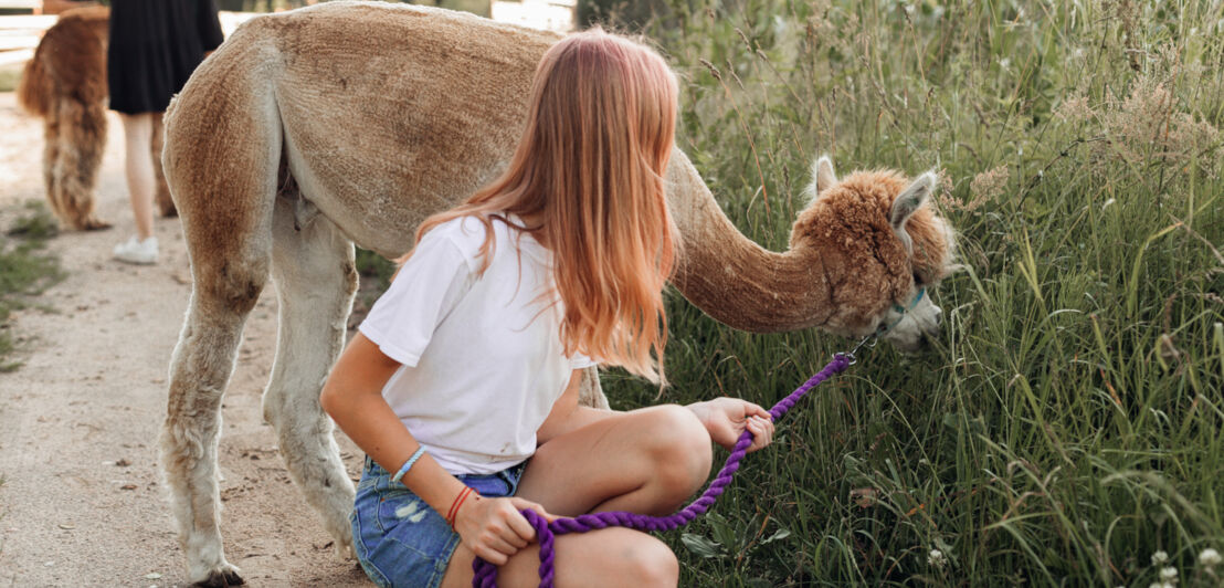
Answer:
<svg viewBox="0 0 1224 588"><path fill-rule="evenodd" d="M77 230L109 228L94 216L94 186L106 147L106 110L102 103L82 104L61 99L56 104L56 163L53 202L59 202L61 221Z"/></svg>

